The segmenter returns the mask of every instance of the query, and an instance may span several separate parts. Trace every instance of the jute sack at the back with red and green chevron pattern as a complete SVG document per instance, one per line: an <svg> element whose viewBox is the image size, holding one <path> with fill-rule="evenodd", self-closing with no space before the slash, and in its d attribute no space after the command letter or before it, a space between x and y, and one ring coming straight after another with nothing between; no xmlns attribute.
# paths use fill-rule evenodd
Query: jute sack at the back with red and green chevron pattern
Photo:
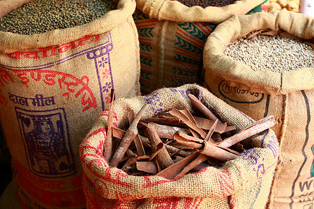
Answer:
<svg viewBox="0 0 314 209"><path fill-rule="evenodd" d="M216 24L234 14L267 11L269 0L241 0L207 8L179 1L136 0L133 15L140 40L142 93L200 83L202 51Z"/></svg>

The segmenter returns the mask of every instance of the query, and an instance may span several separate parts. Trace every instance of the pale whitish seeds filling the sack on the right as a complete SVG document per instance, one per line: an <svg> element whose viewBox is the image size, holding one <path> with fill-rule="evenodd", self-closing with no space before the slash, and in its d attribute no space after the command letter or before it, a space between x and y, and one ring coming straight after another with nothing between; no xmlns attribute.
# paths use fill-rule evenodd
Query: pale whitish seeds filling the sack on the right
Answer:
<svg viewBox="0 0 314 209"><path fill-rule="evenodd" d="M273 72L314 68L314 50L301 40L280 36L239 38L224 52L230 58L249 65L253 70Z"/></svg>

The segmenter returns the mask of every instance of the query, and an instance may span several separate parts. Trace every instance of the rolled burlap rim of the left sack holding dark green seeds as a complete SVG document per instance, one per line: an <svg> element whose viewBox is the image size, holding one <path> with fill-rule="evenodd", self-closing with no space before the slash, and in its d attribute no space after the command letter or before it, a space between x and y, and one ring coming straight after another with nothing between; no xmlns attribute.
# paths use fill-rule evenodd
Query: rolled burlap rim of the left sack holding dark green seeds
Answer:
<svg viewBox="0 0 314 209"><path fill-rule="evenodd" d="M93 36L111 31L126 22L135 11L135 0L120 0L117 9L110 10L100 17L87 24L70 27L67 29L55 29L45 33L22 35L0 31L0 52L11 53L21 49L33 49L38 47L49 47L61 45L66 42Z"/></svg>

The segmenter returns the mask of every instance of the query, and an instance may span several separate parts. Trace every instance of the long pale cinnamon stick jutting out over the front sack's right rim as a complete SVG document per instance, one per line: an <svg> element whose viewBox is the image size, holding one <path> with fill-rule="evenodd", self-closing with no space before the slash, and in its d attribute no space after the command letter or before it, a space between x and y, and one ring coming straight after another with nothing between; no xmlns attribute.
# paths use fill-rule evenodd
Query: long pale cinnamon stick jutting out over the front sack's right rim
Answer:
<svg viewBox="0 0 314 209"><path fill-rule="evenodd" d="M274 116L267 116L266 118L262 118L260 121L256 121L252 125L249 125L244 130L241 130L237 134L234 134L232 137L229 137L219 143L219 146L228 148L238 142L252 137L253 135L262 132L264 130L273 127L276 124Z"/></svg>

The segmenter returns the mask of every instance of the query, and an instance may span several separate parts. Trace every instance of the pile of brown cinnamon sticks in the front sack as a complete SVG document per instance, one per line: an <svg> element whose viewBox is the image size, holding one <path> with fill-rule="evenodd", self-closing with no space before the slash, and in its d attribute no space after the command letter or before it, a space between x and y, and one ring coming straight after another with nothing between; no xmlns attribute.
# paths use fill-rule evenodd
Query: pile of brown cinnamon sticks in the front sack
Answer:
<svg viewBox="0 0 314 209"><path fill-rule="evenodd" d="M103 151L110 167L136 176L180 178L234 160L244 151L241 141L275 125L274 116L267 116L236 132L236 127L220 121L194 95L188 96L195 113L174 108L142 120L147 110L145 104L136 116L133 111L128 112L129 126L121 130L112 125L112 90Z"/></svg>

